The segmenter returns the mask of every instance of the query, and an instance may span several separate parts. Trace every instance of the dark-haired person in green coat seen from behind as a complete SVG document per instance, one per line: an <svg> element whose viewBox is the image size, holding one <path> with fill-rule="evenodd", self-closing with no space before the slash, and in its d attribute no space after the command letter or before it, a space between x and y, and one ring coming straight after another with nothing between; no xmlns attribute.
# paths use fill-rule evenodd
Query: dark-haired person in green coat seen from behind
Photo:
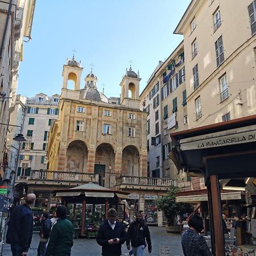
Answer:
<svg viewBox="0 0 256 256"><path fill-rule="evenodd" d="M53 225L46 256L70 256L73 246L73 225L67 220L67 208L60 205L56 210L57 223Z"/></svg>

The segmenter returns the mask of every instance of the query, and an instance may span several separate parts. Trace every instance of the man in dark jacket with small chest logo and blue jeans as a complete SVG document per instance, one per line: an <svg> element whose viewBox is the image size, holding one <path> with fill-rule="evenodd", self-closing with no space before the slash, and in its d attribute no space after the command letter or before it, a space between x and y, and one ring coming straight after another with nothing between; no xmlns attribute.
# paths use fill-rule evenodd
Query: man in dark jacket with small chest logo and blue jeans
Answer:
<svg viewBox="0 0 256 256"><path fill-rule="evenodd" d="M143 221L141 213L136 214L136 220L131 222L129 226L127 231L126 246L128 250L133 250L134 256L142 256L146 246L148 246L148 253L151 253L152 245L150 231L146 223Z"/></svg>

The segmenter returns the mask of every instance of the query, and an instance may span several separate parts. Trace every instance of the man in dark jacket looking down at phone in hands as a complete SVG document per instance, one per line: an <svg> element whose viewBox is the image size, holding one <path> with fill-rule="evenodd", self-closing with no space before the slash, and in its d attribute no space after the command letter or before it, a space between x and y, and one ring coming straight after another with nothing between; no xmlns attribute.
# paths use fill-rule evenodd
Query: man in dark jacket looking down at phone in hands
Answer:
<svg viewBox="0 0 256 256"><path fill-rule="evenodd" d="M108 220L98 230L97 243L102 246L102 256L120 256L126 241L125 226L117 220L117 211L109 209Z"/></svg>

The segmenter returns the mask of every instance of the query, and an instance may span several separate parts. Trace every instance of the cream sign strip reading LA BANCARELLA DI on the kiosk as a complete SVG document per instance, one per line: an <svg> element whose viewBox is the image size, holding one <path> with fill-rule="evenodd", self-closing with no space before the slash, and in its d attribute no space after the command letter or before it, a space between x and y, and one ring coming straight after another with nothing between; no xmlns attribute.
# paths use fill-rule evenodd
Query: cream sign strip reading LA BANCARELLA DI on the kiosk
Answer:
<svg viewBox="0 0 256 256"><path fill-rule="evenodd" d="M248 131L249 130L249 131ZM227 135L228 134L228 135ZM229 146L256 141L256 127L249 126L219 133L200 135L193 138L181 139L181 150L196 150L212 147Z"/></svg>

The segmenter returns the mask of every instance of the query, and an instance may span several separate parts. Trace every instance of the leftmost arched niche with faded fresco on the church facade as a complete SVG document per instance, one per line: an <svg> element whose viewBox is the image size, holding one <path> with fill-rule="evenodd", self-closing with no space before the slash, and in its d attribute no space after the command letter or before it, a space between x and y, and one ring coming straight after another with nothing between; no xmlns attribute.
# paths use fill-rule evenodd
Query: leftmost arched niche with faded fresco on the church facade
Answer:
<svg viewBox="0 0 256 256"><path fill-rule="evenodd" d="M72 141L67 148L67 171L86 172L88 149L83 141Z"/></svg>

